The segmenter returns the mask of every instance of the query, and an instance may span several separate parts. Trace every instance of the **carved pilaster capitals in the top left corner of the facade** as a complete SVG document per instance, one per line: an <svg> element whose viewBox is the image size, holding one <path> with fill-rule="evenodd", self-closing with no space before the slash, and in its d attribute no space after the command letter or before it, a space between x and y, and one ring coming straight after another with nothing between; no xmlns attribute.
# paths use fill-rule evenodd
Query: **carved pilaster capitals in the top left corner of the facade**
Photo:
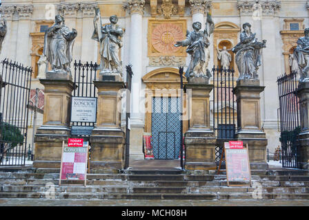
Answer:
<svg viewBox="0 0 309 220"><path fill-rule="evenodd" d="M28 19L33 12L33 5L1 6L1 17L6 19Z"/></svg>

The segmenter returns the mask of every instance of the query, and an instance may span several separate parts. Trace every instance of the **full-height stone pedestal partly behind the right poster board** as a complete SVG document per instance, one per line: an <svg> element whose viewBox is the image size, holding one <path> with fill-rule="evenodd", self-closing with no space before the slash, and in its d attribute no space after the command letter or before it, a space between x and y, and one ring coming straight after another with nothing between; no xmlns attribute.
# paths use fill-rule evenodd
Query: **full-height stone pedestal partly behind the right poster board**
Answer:
<svg viewBox="0 0 309 220"><path fill-rule="evenodd" d="M233 93L237 97L237 133L236 138L248 144L250 168L266 170L267 154L266 133L261 130L260 93L265 87L259 80L239 80Z"/></svg>

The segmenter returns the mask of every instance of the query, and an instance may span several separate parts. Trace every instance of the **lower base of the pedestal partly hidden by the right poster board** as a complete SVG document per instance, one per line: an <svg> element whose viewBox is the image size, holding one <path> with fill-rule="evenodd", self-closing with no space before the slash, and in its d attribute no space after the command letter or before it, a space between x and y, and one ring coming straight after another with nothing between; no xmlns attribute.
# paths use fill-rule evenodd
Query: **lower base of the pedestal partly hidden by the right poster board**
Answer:
<svg viewBox="0 0 309 220"><path fill-rule="evenodd" d="M248 144L251 170L268 169L266 133L263 131L239 131L236 133L236 138L243 142L243 146Z"/></svg>

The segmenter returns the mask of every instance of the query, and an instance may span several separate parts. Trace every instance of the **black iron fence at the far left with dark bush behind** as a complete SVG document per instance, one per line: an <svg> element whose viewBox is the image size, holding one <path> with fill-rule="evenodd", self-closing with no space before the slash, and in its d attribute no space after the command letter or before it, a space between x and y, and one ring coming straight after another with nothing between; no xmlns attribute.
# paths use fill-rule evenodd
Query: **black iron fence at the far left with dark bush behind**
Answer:
<svg viewBox="0 0 309 220"><path fill-rule="evenodd" d="M0 166L26 164L31 74L31 67L8 59L1 62Z"/></svg>

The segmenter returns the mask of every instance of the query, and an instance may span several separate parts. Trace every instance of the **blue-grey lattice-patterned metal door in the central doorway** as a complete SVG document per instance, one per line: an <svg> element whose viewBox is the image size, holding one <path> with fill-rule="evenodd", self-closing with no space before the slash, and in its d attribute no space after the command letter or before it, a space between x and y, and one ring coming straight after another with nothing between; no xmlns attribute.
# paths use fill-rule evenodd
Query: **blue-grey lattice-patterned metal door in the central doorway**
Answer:
<svg viewBox="0 0 309 220"><path fill-rule="evenodd" d="M178 159L181 146L180 98L152 98L152 146L155 159Z"/></svg>

